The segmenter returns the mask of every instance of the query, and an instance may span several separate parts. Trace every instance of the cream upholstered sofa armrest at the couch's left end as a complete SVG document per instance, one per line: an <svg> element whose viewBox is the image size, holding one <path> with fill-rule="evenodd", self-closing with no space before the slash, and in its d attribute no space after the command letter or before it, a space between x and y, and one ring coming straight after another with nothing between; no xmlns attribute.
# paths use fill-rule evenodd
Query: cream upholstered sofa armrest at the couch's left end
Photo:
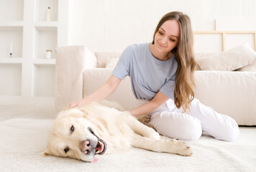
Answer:
<svg viewBox="0 0 256 172"><path fill-rule="evenodd" d="M96 57L85 46L57 47L55 65L55 110L83 97L83 70L96 67Z"/></svg>

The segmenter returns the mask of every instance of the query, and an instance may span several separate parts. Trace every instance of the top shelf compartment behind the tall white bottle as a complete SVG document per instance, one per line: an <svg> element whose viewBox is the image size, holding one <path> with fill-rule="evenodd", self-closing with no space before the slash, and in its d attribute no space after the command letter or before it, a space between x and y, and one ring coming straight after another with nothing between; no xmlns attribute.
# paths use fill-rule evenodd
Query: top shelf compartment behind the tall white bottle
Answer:
<svg viewBox="0 0 256 172"><path fill-rule="evenodd" d="M50 7L50 21L58 21L58 0L36 0L35 21L46 21L48 7Z"/></svg>

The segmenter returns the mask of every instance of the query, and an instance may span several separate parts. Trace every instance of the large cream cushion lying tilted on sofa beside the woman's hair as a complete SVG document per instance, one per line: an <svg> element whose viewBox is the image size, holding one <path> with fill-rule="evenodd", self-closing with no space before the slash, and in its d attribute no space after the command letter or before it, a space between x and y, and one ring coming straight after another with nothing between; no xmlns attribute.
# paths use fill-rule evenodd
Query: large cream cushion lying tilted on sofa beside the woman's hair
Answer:
<svg viewBox="0 0 256 172"><path fill-rule="evenodd" d="M255 58L256 53L249 44L242 44L211 57L198 59L197 63L201 70L231 71L252 64Z"/></svg>

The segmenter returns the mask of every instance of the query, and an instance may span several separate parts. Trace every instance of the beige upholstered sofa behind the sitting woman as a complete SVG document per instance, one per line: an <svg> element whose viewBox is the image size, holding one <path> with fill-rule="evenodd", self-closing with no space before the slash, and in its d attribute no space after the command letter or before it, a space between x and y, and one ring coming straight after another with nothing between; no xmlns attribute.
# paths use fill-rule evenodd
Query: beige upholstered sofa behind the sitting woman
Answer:
<svg viewBox="0 0 256 172"><path fill-rule="evenodd" d="M103 85L111 75L114 63L121 54L121 52L93 54L85 46L57 47L55 50L57 56L55 108L57 112L70 102L86 97ZM234 52L236 51L232 53ZM237 53L239 52L241 51ZM242 67L250 65L256 57L241 59L241 54L239 54L237 59L232 57L234 62L220 61L220 65L226 63L226 68L231 66L230 69L224 69L226 71L207 68L209 65L207 60L211 62L211 65L218 61L212 60L214 55L216 59L221 56L219 60L222 60L222 57L229 56L229 54L196 54L196 62L199 66L195 72L195 97L217 112L231 116L239 125L256 125L256 72L227 71L241 70ZM234 65L236 62L239 64ZM218 66L218 64L215 65ZM200 70L200 67L204 67L204 70ZM134 108L135 99L132 95L129 77L126 77L116 92L107 99L119 102L127 110Z"/></svg>

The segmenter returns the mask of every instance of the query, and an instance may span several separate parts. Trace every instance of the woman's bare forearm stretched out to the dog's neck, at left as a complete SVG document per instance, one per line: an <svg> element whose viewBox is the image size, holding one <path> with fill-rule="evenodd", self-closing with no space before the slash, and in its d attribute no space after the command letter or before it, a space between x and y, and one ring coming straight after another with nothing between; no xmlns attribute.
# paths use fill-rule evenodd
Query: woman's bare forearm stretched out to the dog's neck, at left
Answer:
<svg viewBox="0 0 256 172"><path fill-rule="evenodd" d="M116 87L118 87L121 81L122 80L118 77L111 75L111 77L109 77L109 80L104 85L99 87L98 90L82 100L70 103L69 108L75 108L77 106L85 105L93 101L104 100L104 98L108 97L114 92L114 90L116 90Z"/></svg>

